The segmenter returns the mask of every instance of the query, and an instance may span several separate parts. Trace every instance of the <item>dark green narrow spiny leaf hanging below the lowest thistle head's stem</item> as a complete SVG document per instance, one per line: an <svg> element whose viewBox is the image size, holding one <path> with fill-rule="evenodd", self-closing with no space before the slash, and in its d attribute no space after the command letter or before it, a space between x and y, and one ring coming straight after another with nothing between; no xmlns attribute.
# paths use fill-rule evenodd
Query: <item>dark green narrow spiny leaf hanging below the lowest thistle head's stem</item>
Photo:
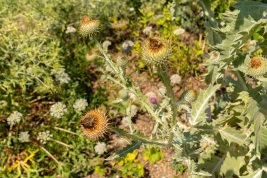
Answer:
<svg viewBox="0 0 267 178"><path fill-rule="evenodd" d="M133 141L132 144L124 147L121 151L118 151L117 153L110 155L106 160L114 160L115 158L125 158L127 153L131 153L134 150L140 148L142 145L142 141Z"/></svg>

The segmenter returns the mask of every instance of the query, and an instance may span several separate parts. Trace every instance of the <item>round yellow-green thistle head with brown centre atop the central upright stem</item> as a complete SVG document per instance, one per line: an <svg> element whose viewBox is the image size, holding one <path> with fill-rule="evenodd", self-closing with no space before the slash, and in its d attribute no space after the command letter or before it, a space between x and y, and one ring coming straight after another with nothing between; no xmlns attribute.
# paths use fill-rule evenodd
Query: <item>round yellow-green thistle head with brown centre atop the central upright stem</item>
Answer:
<svg viewBox="0 0 267 178"><path fill-rule="evenodd" d="M172 47L169 40L162 37L150 37L145 40L142 56L151 65L165 64L171 58Z"/></svg>

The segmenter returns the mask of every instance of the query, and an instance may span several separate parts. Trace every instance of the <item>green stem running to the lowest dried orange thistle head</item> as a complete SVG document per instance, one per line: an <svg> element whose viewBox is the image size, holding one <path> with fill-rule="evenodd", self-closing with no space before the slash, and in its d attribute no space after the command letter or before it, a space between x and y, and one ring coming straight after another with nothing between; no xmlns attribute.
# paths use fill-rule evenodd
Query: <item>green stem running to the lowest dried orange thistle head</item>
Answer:
<svg viewBox="0 0 267 178"><path fill-rule="evenodd" d="M126 136L126 138L128 138L128 139L142 141L145 144L154 144L154 145L158 145L158 146L170 146L170 143L167 140L155 140L155 139L150 140L150 139L145 138L144 136L140 136L138 134L129 134L128 132L125 132L124 130L118 129L116 127L110 127L110 131L115 132L115 133L122 135L122 136Z"/></svg>

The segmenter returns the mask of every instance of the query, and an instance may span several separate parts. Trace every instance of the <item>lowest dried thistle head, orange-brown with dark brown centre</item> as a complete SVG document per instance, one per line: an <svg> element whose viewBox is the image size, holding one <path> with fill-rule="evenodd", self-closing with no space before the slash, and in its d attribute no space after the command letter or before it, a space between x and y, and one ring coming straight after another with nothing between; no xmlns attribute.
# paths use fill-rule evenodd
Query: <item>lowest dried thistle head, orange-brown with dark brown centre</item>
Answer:
<svg viewBox="0 0 267 178"><path fill-rule="evenodd" d="M108 129L108 117L100 109L92 109L82 116L82 132L90 139L98 139Z"/></svg>

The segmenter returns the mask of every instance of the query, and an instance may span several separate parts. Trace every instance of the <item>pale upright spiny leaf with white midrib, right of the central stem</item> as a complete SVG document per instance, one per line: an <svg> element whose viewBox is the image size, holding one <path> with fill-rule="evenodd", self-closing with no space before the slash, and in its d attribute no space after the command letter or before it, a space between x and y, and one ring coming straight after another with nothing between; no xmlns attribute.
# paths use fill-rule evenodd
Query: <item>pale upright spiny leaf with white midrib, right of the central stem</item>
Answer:
<svg viewBox="0 0 267 178"><path fill-rule="evenodd" d="M200 91L200 95L197 97L197 100L192 103L192 112L189 120L191 125L196 125L198 122L207 119L205 110L209 106L209 98L214 95L215 91L219 89L220 86L220 84L216 84L214 87L209 86L206 90Z"/></svg>

